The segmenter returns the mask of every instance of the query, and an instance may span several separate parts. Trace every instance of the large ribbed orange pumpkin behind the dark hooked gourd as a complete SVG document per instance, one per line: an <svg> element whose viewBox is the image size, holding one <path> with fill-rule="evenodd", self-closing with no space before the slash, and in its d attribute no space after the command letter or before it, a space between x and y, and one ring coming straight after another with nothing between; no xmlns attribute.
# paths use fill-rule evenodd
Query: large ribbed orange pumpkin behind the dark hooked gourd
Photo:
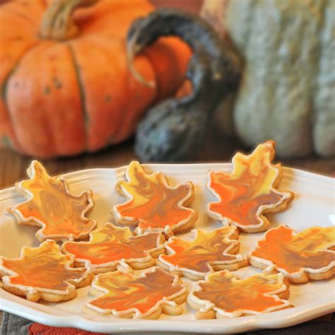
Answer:
<svg viewBox="0 0 335 335"><path fill-rule="evenodd" d="M146 108L180 87L190 57L180 40L162 38L134 61L155 87L131 76L127 30L152 10L147 0L1 5L0 143L48 158L131 136Z"/></svg>

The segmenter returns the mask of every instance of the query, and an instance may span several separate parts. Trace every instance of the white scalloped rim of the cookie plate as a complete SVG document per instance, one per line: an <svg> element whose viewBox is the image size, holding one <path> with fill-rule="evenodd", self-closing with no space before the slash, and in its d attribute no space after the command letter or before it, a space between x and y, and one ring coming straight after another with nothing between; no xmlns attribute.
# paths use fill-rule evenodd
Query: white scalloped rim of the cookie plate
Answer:
<svg viewBox="0 0 335 335"><path fill-rule="evenodd" d="M163 170L168 174L169 171L187 172L189 168L193 172L204 173L206 170L225 170L232 168L231 163L187 163L187 164L143 164L145 167L153 167L154 170ZM114 173L117 177L122 176L127 165L115 168L94 168L68 172L63 176L69 184L78 184L87 181L89 178L101 177L106 174ZM172 169L172 170L171 170ZM198 171L199 170L199 171ZM202 171L202 172L201 172ZM292 177L294 182L311 182L312 186L321 187L325 192L334 194L335 178L318 175L313 172L283 167L283 178ZM333 186L329 182L333 183ZM13 201L16 195L15 188L9 187L0 190L0 204L6 201ZM19 199L21 196L16 195ZM334 197L334 195L333 195ZM1 224L1 223L0 223ZM334 279L333 279L334 280ZM289 327L294 324L314 319L335 311L335 294L333 298L320 300L308 305L302 305L290 310L281 310L264 315L252 315L230 319L227 324L224 319L213 320L129 320L129 319L104 319L103 322L90 319L89 316L66 315L66 311L53 308L54 313L48 312L49 306L40 305L7 293L0 288L0 310L25 317L33 322L40 322L54 327L78 327L88 331L96 332L120 332L131 331L179 331L193 333L237 333L241 331L251 331L264 328ZM173 321L173 322L171 322Z"/></svg>

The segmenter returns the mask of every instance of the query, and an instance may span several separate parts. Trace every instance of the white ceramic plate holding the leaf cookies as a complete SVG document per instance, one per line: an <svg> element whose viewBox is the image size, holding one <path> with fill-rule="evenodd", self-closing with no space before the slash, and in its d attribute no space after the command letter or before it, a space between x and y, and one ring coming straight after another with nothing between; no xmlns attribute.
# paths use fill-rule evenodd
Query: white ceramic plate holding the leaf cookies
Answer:
<svg viewBox="0 0 335 335"><path fill-rule="evenodd" d="M211 230L220 223L206 215L206 204L215 200L206 190L206 176L210 169L230 171L231 164L183 164L183 165L145 165L148 170L163 171L172 183L192 180L196 186L196 196L192 207L199 211L196 228ZM93 189L95 207L91 218L101 225L110 221L112 205L119 204L124 198L114 192L114 184L124 178L126 167L117 169L94 169L72 172L67 175L71 191L81 192ZM295 199L283 213L269 216L272 226L285 223L302 230L310 225L329 226L334 218L333 178L315 175L310 172L285 168L280 187L295 192ZM0 191L0 254L6 257L18 257L24 245L37 246L35 227L18 225L14 218L6 213L6 208L23 201L15 189ZM192 237L192 233L184 234ZM247 254L262 237L263 233L240 235L241 253ZM260 272L252 266L237 271L242 278ZM183 279L187 286L192 281ZM150 293L149 293L150 294ZM335 280L317 281L290 286L290 302L295 307L289 310L264 315L237 317L233 319L195 320L194 312L185 305L184 315L168 317L162 315L158 320L129 320L93 314L83 305L90 300L88 288L81 288L78 298L61 303L30 302L0 288L0 309L11 312L34 322L57 327L78 327L88 331L103 333L134 331L182 331L198 333L236 333L261 328L288 327L309 319L325 315L335 310Z"/></svg>

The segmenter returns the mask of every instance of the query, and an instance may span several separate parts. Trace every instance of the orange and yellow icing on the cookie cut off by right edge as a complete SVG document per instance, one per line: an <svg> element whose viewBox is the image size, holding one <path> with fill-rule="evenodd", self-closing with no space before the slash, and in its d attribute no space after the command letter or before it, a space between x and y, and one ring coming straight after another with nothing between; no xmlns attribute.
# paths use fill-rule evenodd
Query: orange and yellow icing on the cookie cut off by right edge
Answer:
<svg viewBox="0 0 335 335"><path fill-rule="evenodd" d="M280 225L266 232L250 257L266 259L293 274L304 268L335 266L335 252L327 250L334 245L335 227L311 227L294 234L292 228Z"/></svg>

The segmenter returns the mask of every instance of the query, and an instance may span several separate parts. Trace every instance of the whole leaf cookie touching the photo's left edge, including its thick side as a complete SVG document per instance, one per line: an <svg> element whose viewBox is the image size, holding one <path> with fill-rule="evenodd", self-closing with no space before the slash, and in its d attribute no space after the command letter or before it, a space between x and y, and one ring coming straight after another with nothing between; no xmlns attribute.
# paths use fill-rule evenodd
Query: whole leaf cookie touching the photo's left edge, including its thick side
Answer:
<svg viewBox="0 0 335 335"><path fill-rule="evenodd" d="M40 247L23 247L20 258L0 257L4 289L30 301L59 302L76 298L76 288L88 286L93 276L73 269L73 258L64 255L53 240Z"/></svg>

